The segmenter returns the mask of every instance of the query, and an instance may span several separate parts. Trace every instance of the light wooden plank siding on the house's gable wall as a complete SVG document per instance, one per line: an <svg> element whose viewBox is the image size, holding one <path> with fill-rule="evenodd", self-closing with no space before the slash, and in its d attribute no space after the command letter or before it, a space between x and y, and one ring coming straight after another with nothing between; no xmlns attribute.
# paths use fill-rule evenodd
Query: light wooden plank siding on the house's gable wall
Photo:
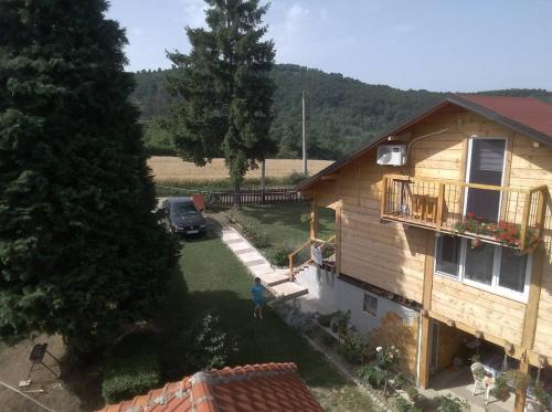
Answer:
<svg viewBox="0 0 552 412"><path fill-rule="evenodd" d="M471 136L507 138L505 186L529 189L548 184L552 190L552 148L537 145L484 117L458 107L445 107L411 126L395 139L447 129L446 133L415 140L405 167L375 163L375 149L336 172L336 179L316 183L315 201L320 207L340 208L341 273L382 287L422 304L427 231L401 223L380 221L382 176L465 181L468 139ZM403 136L404 135L404 136ZM529 358L548 356L552 365L552 201L545 199L542 289L539 299L534 347ZM431 257L433 260L433 257ZM469 325L491 336L492 341L522 346L527 304L499 296L452 278L435 275L431 313L438 319ZM518 350L518 348L516 349ZM534 362L533 362L534 363Z"/></svg>

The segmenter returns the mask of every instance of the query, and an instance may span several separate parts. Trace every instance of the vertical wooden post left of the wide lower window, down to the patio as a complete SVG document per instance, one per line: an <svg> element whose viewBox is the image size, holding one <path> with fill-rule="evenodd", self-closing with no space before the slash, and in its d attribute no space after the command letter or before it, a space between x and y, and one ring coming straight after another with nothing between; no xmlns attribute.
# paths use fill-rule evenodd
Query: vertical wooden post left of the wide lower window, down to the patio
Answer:
<svg viewBox="0 0 552 412"><path fill-rule="evenodd" d="M424 289L422 295L422 306L425 313L432 308L433 290L433 266L435 256L435 233L426 232L427 240L425 246L424 264ZM432 356L431 319L428 316L421 316L420 339L420 374L418 384L426 389L429 384L429 359Z"/></svg>

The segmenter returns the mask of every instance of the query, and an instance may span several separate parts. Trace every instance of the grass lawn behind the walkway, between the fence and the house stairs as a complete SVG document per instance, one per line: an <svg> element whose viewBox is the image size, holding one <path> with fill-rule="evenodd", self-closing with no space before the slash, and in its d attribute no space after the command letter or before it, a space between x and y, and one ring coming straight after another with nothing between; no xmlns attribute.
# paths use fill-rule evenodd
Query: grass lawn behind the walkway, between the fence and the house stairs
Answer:
<svg viewBox="0 0 552 412"><path fill-rule="evenodd" d="M309 223L301 222L301 215L309 212L308 203L295 202L244 207L242 211L233 213L261 224L272 244L295 249L309 237ZM336 212L332 209L320 208L317 237L328 239L335 234Z"/></svg>

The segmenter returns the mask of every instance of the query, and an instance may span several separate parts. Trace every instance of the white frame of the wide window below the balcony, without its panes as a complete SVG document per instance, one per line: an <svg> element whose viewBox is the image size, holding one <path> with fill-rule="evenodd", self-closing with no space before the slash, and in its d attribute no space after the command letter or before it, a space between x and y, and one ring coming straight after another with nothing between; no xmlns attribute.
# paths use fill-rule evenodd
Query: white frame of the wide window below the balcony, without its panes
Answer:
<svg viewBox="0 0 552 412"><path fill-rule="evenodd" d="M509 289L507 287L500 286L499 285L499 279L500 279L500 264L502 260L502 251L503 247L506 246L500 246L500 245L495 245L492 243L488 243L489 245L493 246L495 249L495 255L493 255L493 262L492 262L492 279L491 284L487 285L477 281L468 279L465 277L465 268L466 268L466 254L467 254L467 247L469 247L468 242L470 239L468 237L461 237L460 241L460 251L459 251L459 262L458 262L458 277L455 277L453 275L449 275L445 272L437 271L437 243L438 243L438 237L439 236L445 236L446 234L444 233L436 233L435 234L435 250L434 250L434 265L433 265L433 273L434 275L443 276L456 282L459 282L461 284L465 284L467 286L471 286L481 290L486 290L489 293L492 293L495 295L503 296L507 298L510 298L512 300L518 300L521 303L528 302L529 298L529 286L531 282L531 268L533 264L533 255L528 255L527 256L527 264L526 264L526 278L523 283L523 292L517 292L513 289Z"/></svg>

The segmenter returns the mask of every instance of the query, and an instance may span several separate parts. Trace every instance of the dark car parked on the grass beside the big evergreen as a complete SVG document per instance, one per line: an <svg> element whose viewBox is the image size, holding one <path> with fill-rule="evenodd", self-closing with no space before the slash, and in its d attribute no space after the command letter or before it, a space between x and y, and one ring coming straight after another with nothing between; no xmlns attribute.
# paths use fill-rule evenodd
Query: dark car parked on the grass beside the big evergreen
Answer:
<svg viewBox="0 0 552 412"><path fill-rule="evenodd" d="M204 234L205 218L193 203L192 198L168 198L162 203L167 226L172 233Z"/></svg>

